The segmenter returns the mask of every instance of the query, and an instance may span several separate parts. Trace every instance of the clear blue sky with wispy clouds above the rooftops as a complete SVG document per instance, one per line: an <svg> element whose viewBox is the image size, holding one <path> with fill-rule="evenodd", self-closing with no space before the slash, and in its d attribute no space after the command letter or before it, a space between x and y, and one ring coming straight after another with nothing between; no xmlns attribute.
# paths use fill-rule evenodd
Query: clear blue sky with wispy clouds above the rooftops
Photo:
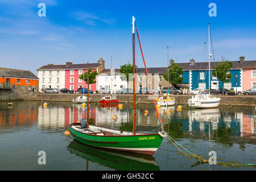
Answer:
<svg viewBox="0 0 256 182"><path fill-rule="evenodd" d="M38 4L46 4L46 17ZM209 3L217 16L210 17ZM68 1L0 0L0 67L36 69L49 63L96 63L105 67L131 63L131 18L137 18L148 67L207 61L208 23L214 57L256 59L256 2L254 1ZM143 67L136 41L136 62Z"/></svg>

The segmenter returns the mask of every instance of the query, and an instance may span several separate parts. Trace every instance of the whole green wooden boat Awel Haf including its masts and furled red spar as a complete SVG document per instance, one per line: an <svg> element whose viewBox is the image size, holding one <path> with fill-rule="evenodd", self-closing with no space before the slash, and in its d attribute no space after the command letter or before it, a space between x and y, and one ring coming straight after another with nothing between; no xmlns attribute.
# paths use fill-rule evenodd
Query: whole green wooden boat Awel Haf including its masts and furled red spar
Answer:
<svg viewBox="0 0 256 182"><path fill-rule="evenodd" d="M135 18L133 16L133 74L135 74ZM137 29L136 29L137 30ZM138 40L139 34L137 30ZM139 41L139 45L141 47L141 42ZM141 48L142 52L142 48ZM144 61L143 53L142 58ZM88 63L89 65L89 63ZM144 61L144 66L147 73L146 63ZM89 66L88 66L89 71ZM87 71L87 84L89 88L89 75ZM158 109L156 108L156 102L154 98L154 94L152 92L152 86L149 81L148 73L147 79L150 85L153 101L155 104L156 113L158 115L159 123L162 126L162 122L159 117ZM133 90L135 90L135 77L133 77ZM110 150L120 150L120 151L129 151L129 152L136 152L139 154L148 154L152 155L158 150L158 147L162 143L164 137L166 137L166 133L163 130L162 132L158 133L137 133L136 132L136 92L133 93L134 95L134 102L133 102L133 131L122 131L122 130L115 130L115 129L108 129L106 127L99 127L93 126L86 123L87 127L81 128L80 123L73 123L67 127L69 133L72 135L73 138L78 140L81 143L88 144L89 146L94 147L101 147L101 148L108 148ZM89 92L87 92L87 98L89 98ZM89 121L89 100L87 101L87 121Z"/></svg>

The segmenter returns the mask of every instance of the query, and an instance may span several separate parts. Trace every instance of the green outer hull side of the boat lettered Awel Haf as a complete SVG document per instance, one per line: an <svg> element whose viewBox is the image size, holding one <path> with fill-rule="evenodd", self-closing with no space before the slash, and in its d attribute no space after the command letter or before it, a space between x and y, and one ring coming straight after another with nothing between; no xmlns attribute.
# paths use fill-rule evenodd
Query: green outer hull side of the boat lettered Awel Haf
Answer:
<svg viewBox="0 0 256 182"><path fill-rule="evenodd" d="M154 154L163 140L159 134L99 136L82 133L70 126L67 129L73 138L89 146L138 154Z"/></svg>

